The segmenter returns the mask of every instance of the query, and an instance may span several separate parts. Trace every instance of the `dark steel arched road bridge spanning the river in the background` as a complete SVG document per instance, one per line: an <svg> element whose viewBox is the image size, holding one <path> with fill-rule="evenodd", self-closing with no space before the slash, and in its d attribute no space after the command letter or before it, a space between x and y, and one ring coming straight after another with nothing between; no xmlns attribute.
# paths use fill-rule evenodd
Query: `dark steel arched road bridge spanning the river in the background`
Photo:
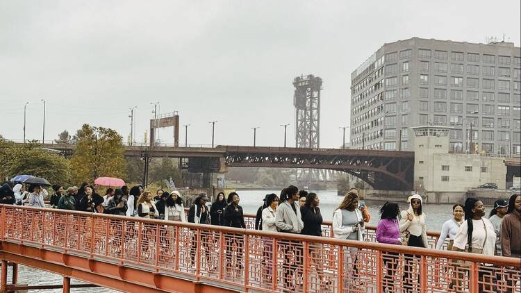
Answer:
<svg viewBox="0 0 521 293"><path fill-rule="evenodd" d="M42 144L72 153L74 144ZM188 158L195 172L224 172L226 167L315 168L344 171L376 190L413 190L414 152L365 149L304 149L282 147L125 147L125 156Z"/></svg>

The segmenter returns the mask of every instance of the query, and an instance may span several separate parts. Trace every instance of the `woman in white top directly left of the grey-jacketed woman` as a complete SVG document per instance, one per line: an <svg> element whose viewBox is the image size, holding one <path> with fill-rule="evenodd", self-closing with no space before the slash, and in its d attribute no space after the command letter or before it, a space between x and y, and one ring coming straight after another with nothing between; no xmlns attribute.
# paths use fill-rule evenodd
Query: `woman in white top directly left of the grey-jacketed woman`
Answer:
<svg viewBox="0 0 521 293"><path fill-rule="evenodd" d="M275 217L276 217L276 207L279 205L279 196L276 194L268 194L266 198L266 206L262 213L262 223L263 223L263 231L276 232L275 226ZM272 267L273 267L273 239L272 237L263 237L264 243L264 251L263 251L263 268L264 275L266 281L268 283L272 282Z"/></svg>

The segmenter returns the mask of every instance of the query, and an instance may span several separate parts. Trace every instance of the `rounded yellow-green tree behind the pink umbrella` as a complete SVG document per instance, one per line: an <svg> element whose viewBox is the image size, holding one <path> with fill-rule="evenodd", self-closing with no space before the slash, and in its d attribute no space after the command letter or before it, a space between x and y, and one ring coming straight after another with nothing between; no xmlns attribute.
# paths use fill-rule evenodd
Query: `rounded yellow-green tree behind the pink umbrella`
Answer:
<svg viewBox="0 0 521 293"><path fill-rule="evenodd" d="M74 182L92 182L100 176L125 178L123 137L110 128L83 124L76 133L77 146L71 158Z"/></svg>

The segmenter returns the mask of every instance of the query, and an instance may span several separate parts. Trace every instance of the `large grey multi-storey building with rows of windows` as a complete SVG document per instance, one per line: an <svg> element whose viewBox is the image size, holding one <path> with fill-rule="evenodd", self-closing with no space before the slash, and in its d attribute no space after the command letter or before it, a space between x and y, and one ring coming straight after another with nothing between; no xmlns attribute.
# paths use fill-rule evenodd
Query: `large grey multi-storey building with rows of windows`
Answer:
<svg viewBox="0 0 521 293"><path fill-rule="evenodd" d="M351 74L351 147L412 151L412 126L451 126L449 151L521 153L521 49L413 37Z"/></svg>

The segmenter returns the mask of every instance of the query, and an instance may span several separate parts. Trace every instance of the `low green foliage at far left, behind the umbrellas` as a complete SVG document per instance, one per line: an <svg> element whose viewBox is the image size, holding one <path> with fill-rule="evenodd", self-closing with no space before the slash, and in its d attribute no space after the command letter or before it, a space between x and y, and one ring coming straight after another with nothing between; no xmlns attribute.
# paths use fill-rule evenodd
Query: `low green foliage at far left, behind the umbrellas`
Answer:
<svg viewBox="0 0 521 293"><path fill-rule="evenodd" d="M40 149L40 145L28 142L16 145L0 139L0 175L11 178L28 174L46 178L50 183L71 183L69 161L58 153Z"/></svg>

